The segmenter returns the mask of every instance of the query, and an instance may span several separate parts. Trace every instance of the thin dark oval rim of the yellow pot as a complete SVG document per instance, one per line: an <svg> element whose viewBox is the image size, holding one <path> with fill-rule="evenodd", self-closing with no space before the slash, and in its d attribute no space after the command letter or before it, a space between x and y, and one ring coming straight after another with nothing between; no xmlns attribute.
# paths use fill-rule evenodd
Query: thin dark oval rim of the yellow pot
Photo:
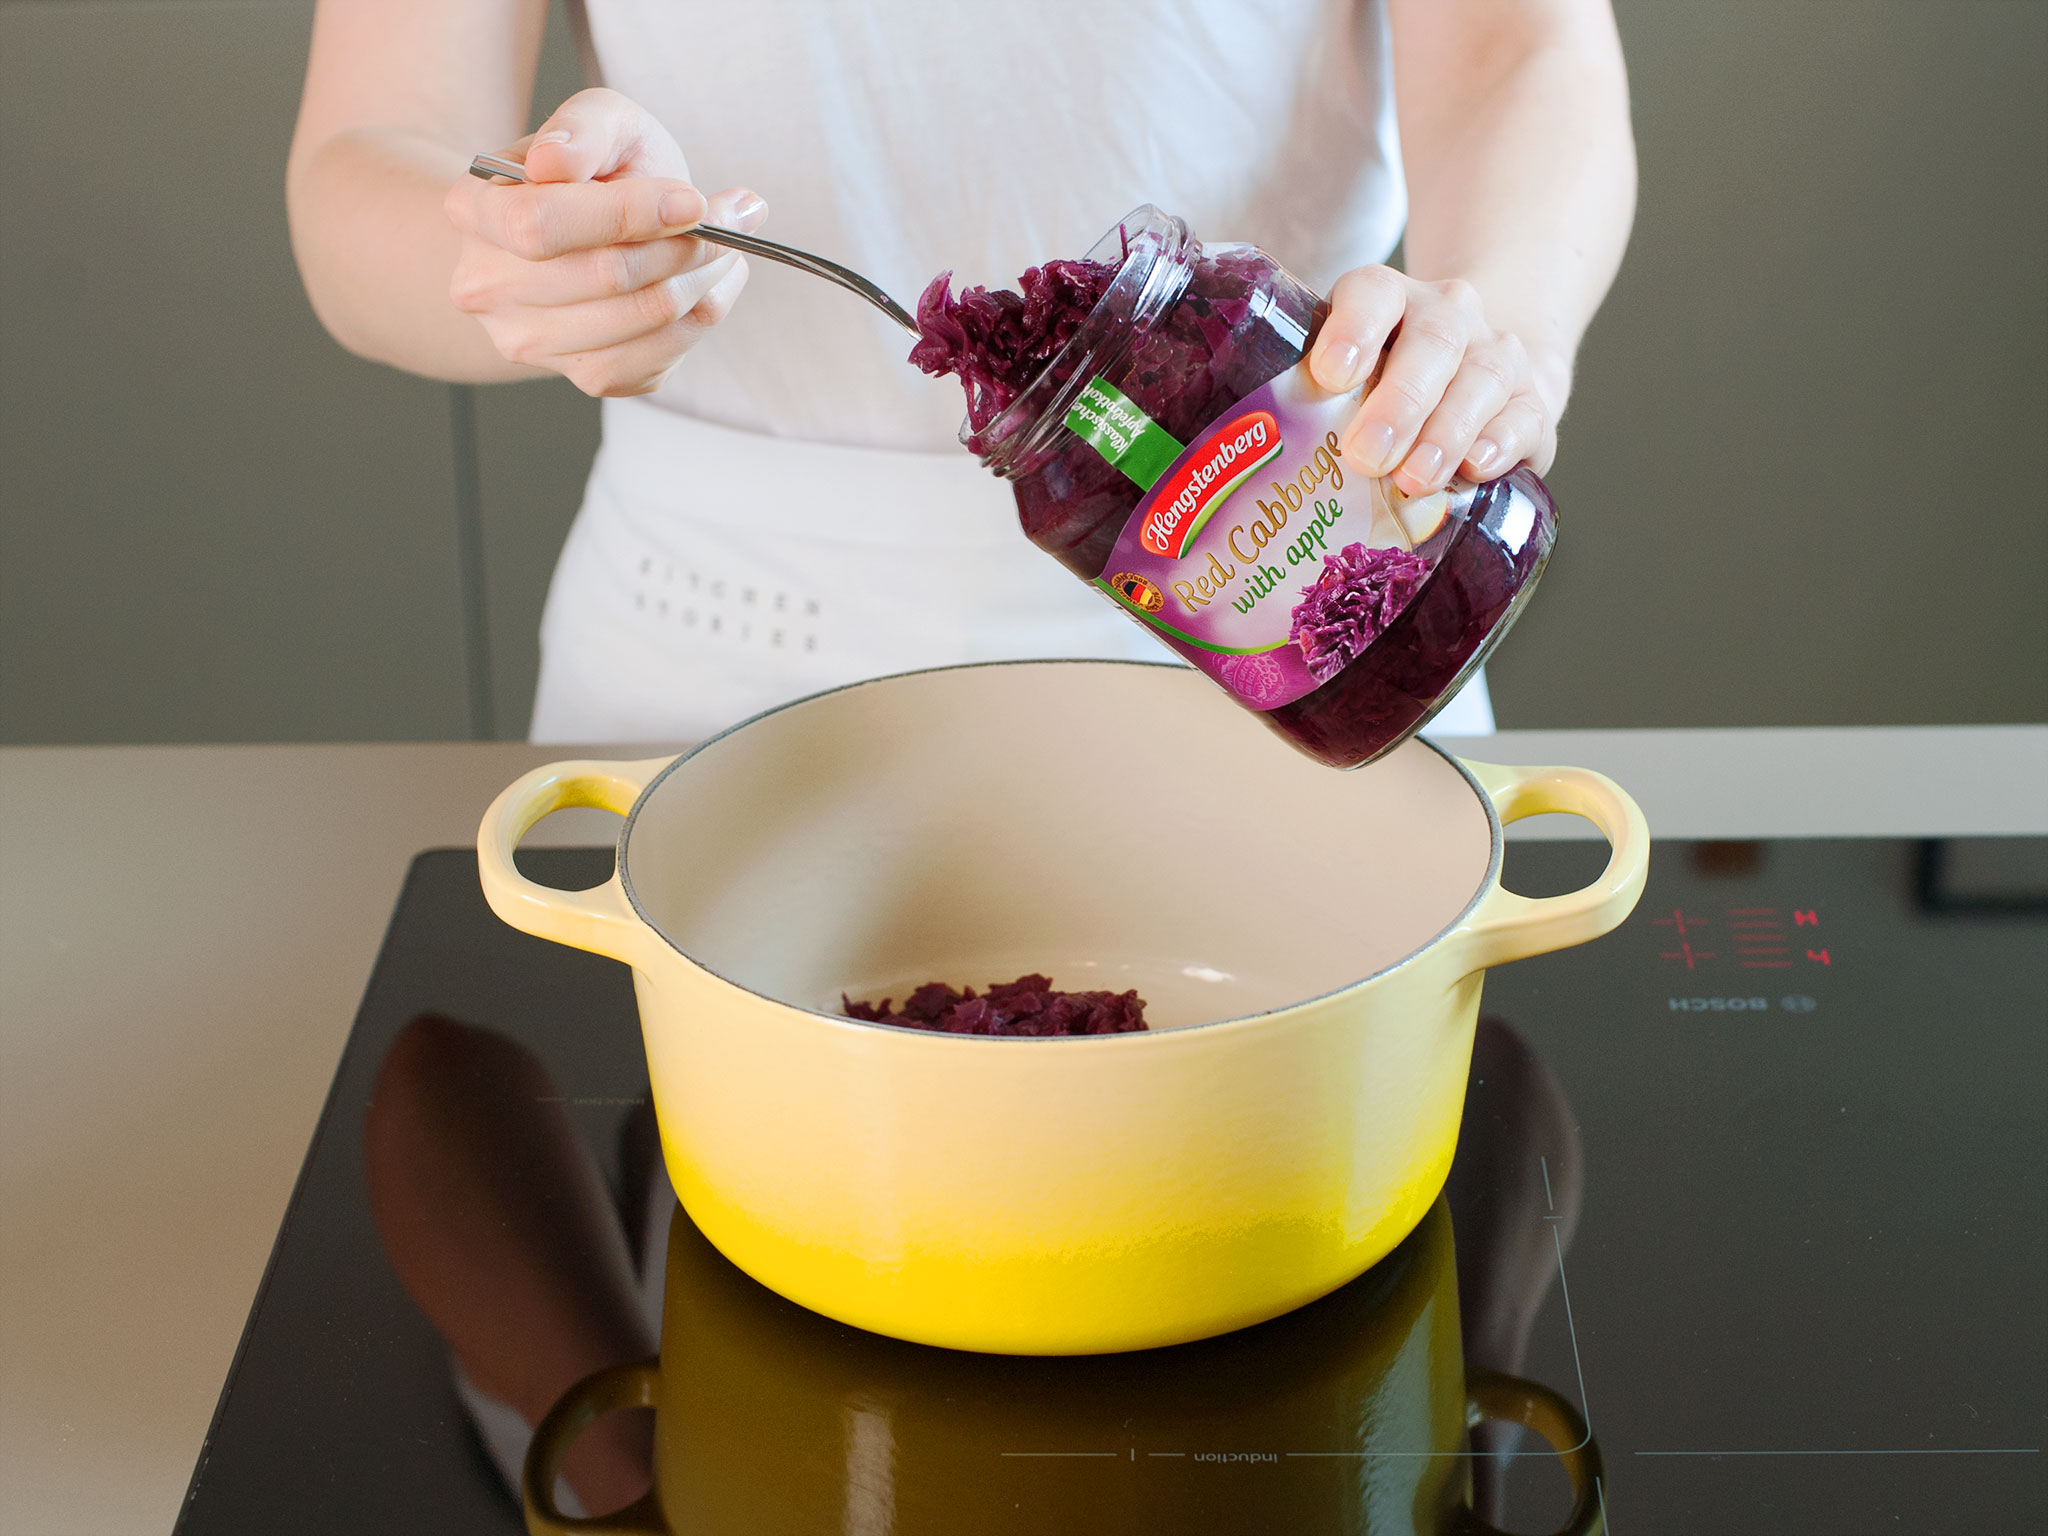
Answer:
<svg viewBox="0 0 2048 1536"><path fill-rule="evenodd" d="M1055 1044L1077 1044L1077 1042L1167 1038L1167 1036L1186 1034L1190 1030L1214 1030L1214 1028L1223 1028L1225 1024L1243 1024L1243 1026L1249 1026L1249 1024L1260 1024L1260 1022L1276 1020L1276 1018L1280 1018L1284 1014L1292 1014L1292 1012L1303 1010L1303 1008L1311 1008L1313 1004L1323 1004L1323 1001L1329 1001L1333 997L1341 997L1343 993L1358 991L1360 987L1366 987L1366 985L1378 981L1380 977L1393 975L1403 965L1409 965L1411 961L1427 954L1444 938L1448 938L1466 918L1470 918L1473 911L1479 907L1479 903L1487 897L1487 893L1499 883L1499 877L1501 877L1501 844L1503 844L1503 834L1501 834L1501 815L1499 815L1499 811L1493 805L1493 797L1487 795L1487 791L1479 782L1479 778L1473 776L1473 770L1466 768L1458 758L1454 758L1450 752L1444 752L1444 748L1436 745L1436 741L1427 741L1421 735L1411 735L1411 737L1407 737L1407 741L1403 741L1401 745L1397 745L1395 752L1399 752L1401 748L1409 745L1411 741L1417 743L1417 745L1427 748L1430 752L1434 752L1438 758L1442 758L1444 762L1448 762L1456 770L1456 774L1464 780L1466 788L1473 791L1473 797L1479 801L1481 809L1487 813L1487 872L1479 881L1479 889L1473 891L1470 901L1466 901L1448 924L1444 924L1423 944L1417 944L1413 950L1409 950L1407 954L1403 954L1399 961L1393 961L1391 965L1382 965L1378 971L1372 971L1370 975L1358 977L1356 981L1346 981L1341 987L1331 987L1329 991L1321 991L1321 993L1315 993L1311 997L1300 997L1300 999L1296 999L1292 1004L1284 1004L1282 1008L1266 1008L1266 1010L1260 1010L1257 1014L1233 1014L1229 1018L1208 1018L1208 1020L1202 1020L1198 1024L1167 1024L1165 1028L1157 1028L1157 1030L1147 1026L1143 1030L1128 1030L1124 1034L948 1034L944 1030L918 1030L918 1028L911 1028L907 1024L877 1024L877 1022L862 1020L862 1018L848 1018L846 1014L827 1014L827 1012L823 1012L819 1008L805 1008L803 1004L793 1004L786 997L772 997L772 995L768 995L764 991L758 991L756 987L750 987L743 981L735 981L733 977L725 975L723 971L717 971L711 965L705 965L705 961L700 961L698 956L690 954L641 905L639 891L633 889L633 864L627 858L627 844L633 842L633 827L639 823L641 807L647 805L647 801L653 797L653 793L657 788L662 788L662 784L668 780L670 774L674 774L678 768L682 768L686 762L690 762L696 754L707 752L709 748L717 745L719 741L723 741L725 737L733 735L735 731L748 729L756 721L764 721L770 715L780 715L786 709L797 709L799 705L809 705L809 702L813 702L817 698L829 698L831 694L854 692L856 688L872 688L877 684L897 682L901 678L922 678L922 676L928 676L932 672L979 672L979 670L985 670L985 668L1047 668L1047 666L1157 668L1157 670L1163 670L1163 672L1190 672L1192 670L1192 668L1186 668L1184 664L1178 664L1178 662L1130 662L1130 659L1087 657L1087 655L1036 657L1036 659L1012 659L1012 662L961 662L961 664L954 664L954 666L911 668L907 672L887 672L887 674L883 674L879 678L860 678L858 682L844 682L838 688L819 688L815 694L805 694L803 698L791 698L788 702L772 705L770 709L764 709L764 711L760 711L756 715L748 715L743 721L727 725L717 735L707 735L702 741L698 741L688 752L678 754L674 758L674 762L670 762L662 772L657 772L653 778L647 780L647 788L643 788L639 793L639 797L633 801L633 809L627 811L627 821L618 829L618 842L614 844L612 860L618 866L618 885L627 893L627 903L633 907L633 915L639 918L639 922L651 934L655 934L670 950L674 950L680 958L684 958L690 965L694 965L705 975L717 977L725 985L735 987L735 989L739 989L739 991L743 991L743 993L748 993L752 997L760 997L766 1004L774 1004L776 1008L788 1008L791 1012L797 1012L797 1014L807 1014L807 1016L811 1016L815 1020L823 1020L825 1024L844 1024L844 1026L850 1026L850 1028L856 1028L856 1030L887 1030L891 1034L909 1034L909 1036L915 1036L915 1038L922 1038L922 1040L954 1040L954 1042L958 1042L963 1047L977 1047L977 1044L985 1044L985 1047L1016 1047L1016 1044L1044 1044L1044 1047L1055 1047ZM1360 768L1368 768L1368 766L1370 764L1360 764ZM1356 770L1341 770L1341 772L1356 772Z"/></svg>

